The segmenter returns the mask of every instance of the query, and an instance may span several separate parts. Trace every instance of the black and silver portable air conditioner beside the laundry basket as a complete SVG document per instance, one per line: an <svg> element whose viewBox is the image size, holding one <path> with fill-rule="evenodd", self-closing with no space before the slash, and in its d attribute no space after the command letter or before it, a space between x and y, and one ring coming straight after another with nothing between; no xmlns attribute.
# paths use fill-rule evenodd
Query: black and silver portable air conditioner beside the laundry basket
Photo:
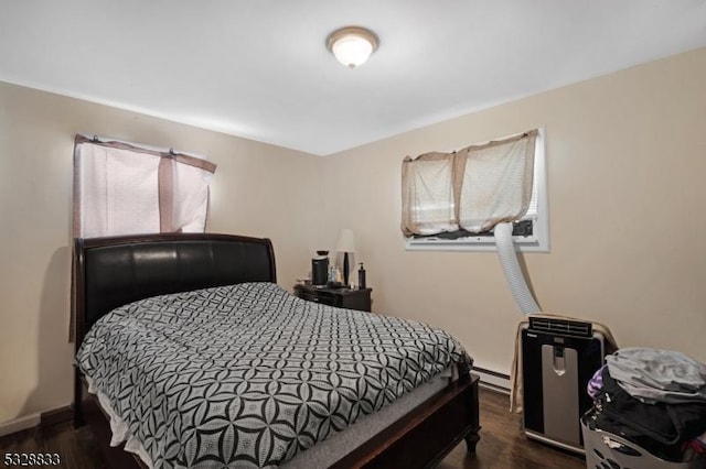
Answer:
<svg viewBox="0 0 706 469"><path fill-rule="evenodd" d="M530 317L521 332L525 435L582 454L586 386L614 350L591 323Z"/></svg>

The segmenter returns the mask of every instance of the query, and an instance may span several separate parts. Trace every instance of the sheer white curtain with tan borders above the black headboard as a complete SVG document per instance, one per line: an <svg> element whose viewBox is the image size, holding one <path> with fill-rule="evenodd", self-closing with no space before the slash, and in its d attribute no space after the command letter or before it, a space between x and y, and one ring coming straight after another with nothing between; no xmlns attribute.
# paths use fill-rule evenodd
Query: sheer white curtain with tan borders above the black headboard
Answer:
<svg viewBox="0 0 706 469"><path fill-rule="evenodd" d="M215 164L76 135L74 236L204 231Z"/></svg>

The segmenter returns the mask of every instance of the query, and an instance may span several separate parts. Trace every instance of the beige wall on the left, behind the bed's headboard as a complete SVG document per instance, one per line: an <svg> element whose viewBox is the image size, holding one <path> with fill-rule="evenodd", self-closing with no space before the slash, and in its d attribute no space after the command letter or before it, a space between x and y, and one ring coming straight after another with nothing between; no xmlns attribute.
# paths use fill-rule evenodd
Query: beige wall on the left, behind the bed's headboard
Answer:
<svg viewBox="0 0 706 469"><path fill-rule="evenodd" d="M307 273L321 159L0 83L0 424L67 405L73 139L87 132L206 154L208 231L270 237L279 283Z"/></svg>

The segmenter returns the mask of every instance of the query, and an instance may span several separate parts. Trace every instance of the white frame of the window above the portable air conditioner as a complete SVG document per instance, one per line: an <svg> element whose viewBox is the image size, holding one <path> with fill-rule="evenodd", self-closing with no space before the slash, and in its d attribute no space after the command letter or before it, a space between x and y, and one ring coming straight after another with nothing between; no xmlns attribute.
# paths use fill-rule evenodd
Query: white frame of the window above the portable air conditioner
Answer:
<svg viewBox="0 0 706 469"><path fill-rule="evenodd" d="M536 197L536 214L526 215L520 220L533 220L532 236L512 237L520 252L550 252L546 131L544 128L537 128L537 131L533 168L533 199ZM458 239L442 239L436 236L428 236L406 238L405 250L494 252L496 251L496 247L495 238L492 234L471 236Z"/></svg>

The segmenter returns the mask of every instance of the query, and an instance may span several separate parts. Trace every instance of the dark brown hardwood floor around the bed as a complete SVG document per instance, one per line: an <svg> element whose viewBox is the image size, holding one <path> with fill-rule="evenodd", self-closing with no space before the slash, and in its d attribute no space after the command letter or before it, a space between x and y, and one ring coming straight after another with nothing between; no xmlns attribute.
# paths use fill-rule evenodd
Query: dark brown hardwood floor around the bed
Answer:
<svg viewBox="0 0 706 469"><path fill-rule="evenodd" d="M520 416L507 412L507 395L481 390L480 404L482 429L477 452L469 455L466 451L466 444L462 443L439 465L439 469L582 469L586 467L580 456L528 440L521 433ZM2 437L0 438L0 457L4 457L6 452L55 452L60 455L62 461L58 467L66 469L104 469L106 467L90 429L85 426L74 429L71 422ZM3 461L0 461L0 467L6 467Z"/></svg>

